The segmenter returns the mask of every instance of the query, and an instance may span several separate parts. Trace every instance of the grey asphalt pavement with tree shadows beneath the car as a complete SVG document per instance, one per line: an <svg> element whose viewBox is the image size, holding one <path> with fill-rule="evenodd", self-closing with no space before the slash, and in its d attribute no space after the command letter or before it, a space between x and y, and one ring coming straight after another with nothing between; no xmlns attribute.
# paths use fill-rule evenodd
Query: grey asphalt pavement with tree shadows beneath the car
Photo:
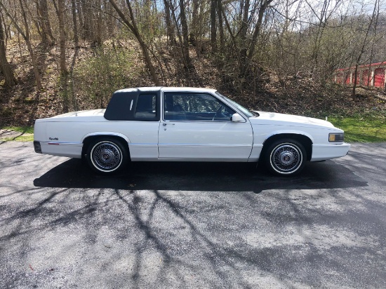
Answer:
<svg viewBox="0 0 386 289"><path fill-rule="evenodd" d="M386 288L386 144L298 177L0 145L0 288Z"/></svg>

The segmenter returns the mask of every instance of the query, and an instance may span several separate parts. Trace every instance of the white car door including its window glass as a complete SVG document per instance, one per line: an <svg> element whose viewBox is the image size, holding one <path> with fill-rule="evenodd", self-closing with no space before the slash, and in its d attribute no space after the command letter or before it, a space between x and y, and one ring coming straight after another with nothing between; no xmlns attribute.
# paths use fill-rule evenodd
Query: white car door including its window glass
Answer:
<svg viewBox="0 0 386 289"><path fill-rule="evenodd" d="M248 161L251 123L232 122L234 109L209 93L164 93L159 159Z"/></svg>

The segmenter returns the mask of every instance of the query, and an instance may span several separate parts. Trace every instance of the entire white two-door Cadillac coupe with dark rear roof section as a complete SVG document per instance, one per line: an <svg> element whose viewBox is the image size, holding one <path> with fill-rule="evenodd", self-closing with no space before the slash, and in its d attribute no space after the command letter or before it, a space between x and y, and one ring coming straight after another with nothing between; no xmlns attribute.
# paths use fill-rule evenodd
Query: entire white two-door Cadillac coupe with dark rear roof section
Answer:
<svg viewBox="0 0 386 289"><path fill-rule="evenodd" d="M251 112L209 88L126 88L106 109L37 119L35 151L85 157L99 173L129 161L262 161L294 175L306 161L345 156L350 145L328 121Z"/></svg>

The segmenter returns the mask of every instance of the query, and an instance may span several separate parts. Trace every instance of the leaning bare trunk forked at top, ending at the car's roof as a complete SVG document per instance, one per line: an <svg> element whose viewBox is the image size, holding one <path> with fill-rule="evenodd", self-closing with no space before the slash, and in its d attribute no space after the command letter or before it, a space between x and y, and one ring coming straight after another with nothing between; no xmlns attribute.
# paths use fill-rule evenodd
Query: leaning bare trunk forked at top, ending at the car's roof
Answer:
<svg viewBox="0 0 386 289"><path fill-rule="evenodd" d="M145 41L143 41L142 36L140 35L140 32L139 32L138 27L137 27L137 23L135 22L135 18L133 15L133 9L131 8L130 1L126 0L126 4L128 6L128 10L130 12L129 17L131 19L131 22L126 18L126 16L121 11L121 9L119 9L119 7L117 6L117 4L115 3L114 0L109 0L109 1L112 4L112 6L114 7L115 11L117 11L119 17L124 21L124 23L126 24L128 29L131 31L131 33L133 33L133 35L137 39L138 43L140 44L140 48L142 50L142 55L145 58L145 63L146 63L147 69L149 69L149 72L152 75L152 79L153 79L155 85L159 86L160 82L159 82L156 70L154 68L154 65L152 63L152 59L150 58L150 55L149 55L149 48L147 47Z"/></svg>

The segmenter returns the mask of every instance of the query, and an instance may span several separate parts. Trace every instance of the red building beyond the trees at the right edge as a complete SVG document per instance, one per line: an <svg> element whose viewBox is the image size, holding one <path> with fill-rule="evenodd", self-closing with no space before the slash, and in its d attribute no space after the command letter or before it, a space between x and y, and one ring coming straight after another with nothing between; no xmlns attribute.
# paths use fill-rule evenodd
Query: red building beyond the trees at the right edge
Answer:
<svg viewBox="0 0 386 289"><path fill-rule="evenodd" d="M334 81L336 83L354 84L355 67L337 69ZM374 86L385 88L386 61L359 65L357 71L357 86Z"/></svg>

